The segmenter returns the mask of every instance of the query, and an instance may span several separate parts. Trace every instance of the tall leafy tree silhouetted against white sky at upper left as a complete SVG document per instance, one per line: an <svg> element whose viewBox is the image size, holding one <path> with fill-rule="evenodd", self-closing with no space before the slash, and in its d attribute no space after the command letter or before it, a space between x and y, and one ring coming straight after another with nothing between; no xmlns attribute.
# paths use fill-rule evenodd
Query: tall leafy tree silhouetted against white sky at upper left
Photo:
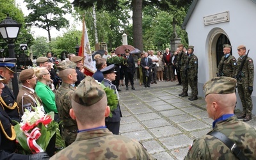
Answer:
<svg viewBox="0 0 256 160"><path fill-rule="evenodd" d="M72 6L68 0L24 0L28 3L27 8L31 11L26 17L29 25L45 29L48 33L48 40L51 42L51 28L60 31L68 27L69 22L65 17L72 12Z"/></svg>

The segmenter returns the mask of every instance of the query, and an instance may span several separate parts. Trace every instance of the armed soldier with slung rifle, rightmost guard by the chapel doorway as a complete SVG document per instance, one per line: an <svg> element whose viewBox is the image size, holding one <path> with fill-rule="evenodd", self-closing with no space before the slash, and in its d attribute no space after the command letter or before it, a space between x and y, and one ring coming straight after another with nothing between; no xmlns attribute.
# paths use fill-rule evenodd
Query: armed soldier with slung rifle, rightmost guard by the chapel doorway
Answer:
<svg viewBox="0 0 256 160"><path fill-rule="evenodd" d="M237 90L239 97L243 105L243 114L237 116L238 119L243 119L247 122L252 119L252 92L253 92L253 78L254 78L254 66L253 60L250 57L246 58L246 47L239 45L237 47L239 58L237 60L237 68L241 71L241 76L237 77ZM246 60L244 60L246 58ZM244 61L243 68L241 63Z"/></svg>

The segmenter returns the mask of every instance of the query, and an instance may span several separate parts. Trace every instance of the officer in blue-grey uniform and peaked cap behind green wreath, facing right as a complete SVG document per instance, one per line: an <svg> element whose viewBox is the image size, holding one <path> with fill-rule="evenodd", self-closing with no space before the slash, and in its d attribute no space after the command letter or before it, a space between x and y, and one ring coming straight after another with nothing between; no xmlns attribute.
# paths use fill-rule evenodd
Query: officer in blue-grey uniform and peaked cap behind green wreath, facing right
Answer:
<svg viewBox="0 0 256 160"><path fill-rule="evenodd" d="M109 65L106 68L103 68L102 70L100 70L100 72L102 72L104 79L104 86L111 88L112 90L115 90L115 93L119 99L118 96L118 91L116 90L116 86L114 84L112 84L112 81L115 81L116 79L116 71L115 71L115 65ZM121 109L120 109L120 105L119 102L117 104L117 108L115 109L115 111L111 111L112 112L112 117L107 117L105 119L106 122L106 126L109 129L109 131L113 132L113 134L118 135L119 134L119 128L120 128L120 120L122 117L122 113L121 113Z"/></svg>

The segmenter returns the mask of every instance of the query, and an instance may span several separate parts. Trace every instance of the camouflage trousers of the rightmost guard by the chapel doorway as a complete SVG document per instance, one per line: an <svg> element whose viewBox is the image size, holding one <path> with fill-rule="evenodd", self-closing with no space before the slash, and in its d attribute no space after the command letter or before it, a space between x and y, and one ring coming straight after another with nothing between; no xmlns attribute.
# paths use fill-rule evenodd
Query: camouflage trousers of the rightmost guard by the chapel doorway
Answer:
<svg viewBox="0 0 256 160"><path fill-rule="evenodd" d="M252 114L252 97L248 92L248 85L237 84L239 97L243 105L243 114Z"/></svg>

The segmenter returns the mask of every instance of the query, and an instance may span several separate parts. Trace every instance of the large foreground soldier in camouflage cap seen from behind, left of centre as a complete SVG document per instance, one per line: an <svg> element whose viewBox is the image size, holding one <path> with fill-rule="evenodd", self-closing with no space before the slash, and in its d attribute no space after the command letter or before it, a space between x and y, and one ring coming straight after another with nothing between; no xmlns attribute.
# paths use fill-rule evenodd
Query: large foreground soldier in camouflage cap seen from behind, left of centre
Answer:
<svg viewBox="0 0 256 160"><path fill-rule="evenodd" d="M155 159L138 141L114 135L105 125L110 113L106 93L87 76L72 95L70 116L77 121L74 143L51 159Z"/></svg>

